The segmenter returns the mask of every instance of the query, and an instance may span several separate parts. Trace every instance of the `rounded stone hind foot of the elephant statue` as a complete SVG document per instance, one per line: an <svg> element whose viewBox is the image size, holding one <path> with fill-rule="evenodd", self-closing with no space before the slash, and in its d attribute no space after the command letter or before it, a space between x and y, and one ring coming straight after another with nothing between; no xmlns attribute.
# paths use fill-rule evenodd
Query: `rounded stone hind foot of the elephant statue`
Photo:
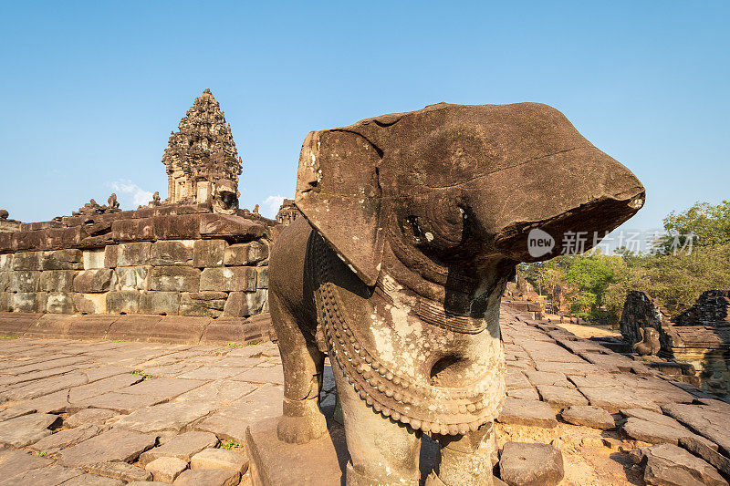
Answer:
<svg viewBox="0 0 730 486"><path fill-rule="evenodd" d="M276 436L290 444L319 439L327 432L327 420L319 410L317 398L284 398L284 415L279 419Z"/></svg>

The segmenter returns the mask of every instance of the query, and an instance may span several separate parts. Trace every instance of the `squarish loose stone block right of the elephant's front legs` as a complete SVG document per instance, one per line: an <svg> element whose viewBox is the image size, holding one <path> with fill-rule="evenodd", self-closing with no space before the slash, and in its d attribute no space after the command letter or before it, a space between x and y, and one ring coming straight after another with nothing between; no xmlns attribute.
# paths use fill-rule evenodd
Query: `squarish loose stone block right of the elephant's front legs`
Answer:
<svg viewBox="0 0 730 486"><path fill-rule="evenodd" d="M563 455L550 444L507 442L499 456L499 477L510 486L554 486L563 475Z"/></svg>

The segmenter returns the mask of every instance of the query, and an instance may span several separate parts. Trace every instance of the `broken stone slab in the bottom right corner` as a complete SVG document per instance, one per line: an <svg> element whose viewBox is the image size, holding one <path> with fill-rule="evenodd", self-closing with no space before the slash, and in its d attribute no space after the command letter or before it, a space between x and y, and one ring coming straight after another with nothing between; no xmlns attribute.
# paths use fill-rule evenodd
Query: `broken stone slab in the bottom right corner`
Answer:
<svg viewBox="0 0 730 486"><path fill-rule="evenodd" d="M635 455L644 468L644 481L647 484L662 486L727 484L727 481L707 462L673 444L640 448Z"/></svg>

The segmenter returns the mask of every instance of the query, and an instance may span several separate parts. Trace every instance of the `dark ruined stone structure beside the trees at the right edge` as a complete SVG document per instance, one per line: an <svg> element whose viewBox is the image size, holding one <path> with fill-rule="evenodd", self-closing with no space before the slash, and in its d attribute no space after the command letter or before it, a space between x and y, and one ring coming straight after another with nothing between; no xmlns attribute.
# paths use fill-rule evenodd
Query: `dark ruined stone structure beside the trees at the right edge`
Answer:
<svg viewBox="0 0 730 486"><path fill-rule="evenodd" d="M652 297L640 291L627 295L620 330L624 341L638 354L647 348L654 331L658 333L659 357L689 365L703 388L727 396L730 392L730 291L708 290L680 315L669 313ZM652 329L651 331L649 329ZM652 350L653 351L653 350ZM668 371L668 369L665 369Z"/></svg>

